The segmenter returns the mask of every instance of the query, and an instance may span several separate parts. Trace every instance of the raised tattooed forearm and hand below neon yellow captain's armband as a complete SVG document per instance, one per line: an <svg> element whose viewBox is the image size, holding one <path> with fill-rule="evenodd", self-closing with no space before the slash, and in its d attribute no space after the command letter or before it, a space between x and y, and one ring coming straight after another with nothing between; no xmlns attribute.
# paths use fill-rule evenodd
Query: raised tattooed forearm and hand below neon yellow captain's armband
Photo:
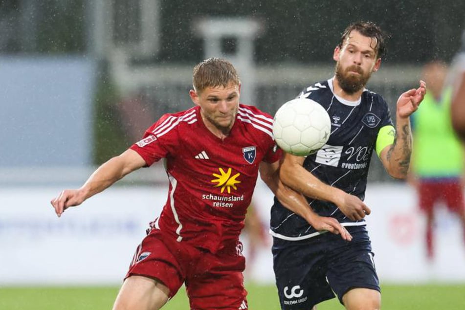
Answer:
<svg viewBox="0 0 465 310"><path fill-rule="evenodd" d="M409 116L417 111L426 93L426 85L420 81L418 89L410 89L400 95L396 111L396 138L380 154L386 171L395 178L407 177L412 153L412 132Z"/></svg>

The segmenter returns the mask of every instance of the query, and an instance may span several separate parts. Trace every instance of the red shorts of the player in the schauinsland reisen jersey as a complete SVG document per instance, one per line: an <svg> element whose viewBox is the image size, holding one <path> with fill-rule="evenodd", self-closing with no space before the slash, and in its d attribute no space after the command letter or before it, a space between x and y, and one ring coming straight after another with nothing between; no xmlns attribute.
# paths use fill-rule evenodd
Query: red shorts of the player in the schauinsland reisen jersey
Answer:
<svg viewBox="0 0 465 310"><path fill-rule="evenodd" d="M155 278L170 289L170 298L185 283L191 309L238 310L247 309L244 268L239 241L212 254L152 229L137 248L126 277Z"/></svg>

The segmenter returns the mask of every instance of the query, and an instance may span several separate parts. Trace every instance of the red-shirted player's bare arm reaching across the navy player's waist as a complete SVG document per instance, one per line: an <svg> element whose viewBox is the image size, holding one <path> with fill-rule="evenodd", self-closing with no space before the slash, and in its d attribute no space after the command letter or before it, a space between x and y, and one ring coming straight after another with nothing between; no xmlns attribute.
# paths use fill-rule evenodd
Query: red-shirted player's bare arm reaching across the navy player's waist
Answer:
<svg viewBox="0 0 465 310"><path fill-rule="evenodd" d="M302 194L290 189L279 179L279 162L260 164L260 176L268 185L276 198L289 210L304 218L313 228L318 231L327 230L333 234L340 234L347 241L352 240L349 232L334 218L321 217L309 206Z"/></svg>

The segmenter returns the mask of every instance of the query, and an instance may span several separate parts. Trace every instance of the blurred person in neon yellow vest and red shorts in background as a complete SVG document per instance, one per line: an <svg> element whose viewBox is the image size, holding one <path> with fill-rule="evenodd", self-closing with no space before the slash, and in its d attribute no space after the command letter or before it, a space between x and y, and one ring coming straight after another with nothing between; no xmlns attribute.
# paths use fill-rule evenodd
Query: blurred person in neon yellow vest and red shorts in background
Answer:
<svg viewBox="0 0 465 310"><path fill-rule="evenodd" d="M418 111L412 115L413 151L410 180L417 188L418 202L426 215L426 253L434 257L434 208L443 201L457 214L464 227L464 147L452 130L450 102L452 91L444 88L448 68L440 61L423 67L427 92Z"/></svg>

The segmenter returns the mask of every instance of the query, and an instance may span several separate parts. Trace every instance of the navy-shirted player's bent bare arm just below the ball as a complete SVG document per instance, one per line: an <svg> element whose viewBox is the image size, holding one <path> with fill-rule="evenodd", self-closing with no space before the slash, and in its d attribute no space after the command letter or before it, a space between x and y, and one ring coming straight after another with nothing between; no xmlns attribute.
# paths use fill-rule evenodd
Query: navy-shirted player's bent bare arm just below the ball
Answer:
<svg viewBox="0 0 465 310"><path fill-rule="evenodd" d="M284 184L303 195L331 201L344 215L353 221L361 220L371 213L370 208L358 197L323 183L302 165L304 157L285 154L280 178Z"/></svg>

